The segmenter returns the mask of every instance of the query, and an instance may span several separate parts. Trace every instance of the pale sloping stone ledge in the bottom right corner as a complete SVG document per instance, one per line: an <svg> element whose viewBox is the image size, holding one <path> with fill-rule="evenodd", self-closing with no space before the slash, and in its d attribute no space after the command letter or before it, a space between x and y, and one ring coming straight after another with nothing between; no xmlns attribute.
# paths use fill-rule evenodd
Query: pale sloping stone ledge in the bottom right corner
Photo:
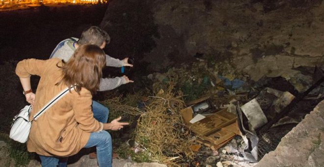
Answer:
<svg viewBox="0 0 324 167"><path fill-rule="evenodd" d="M323 167L324 100L255 167Z"/></svg>

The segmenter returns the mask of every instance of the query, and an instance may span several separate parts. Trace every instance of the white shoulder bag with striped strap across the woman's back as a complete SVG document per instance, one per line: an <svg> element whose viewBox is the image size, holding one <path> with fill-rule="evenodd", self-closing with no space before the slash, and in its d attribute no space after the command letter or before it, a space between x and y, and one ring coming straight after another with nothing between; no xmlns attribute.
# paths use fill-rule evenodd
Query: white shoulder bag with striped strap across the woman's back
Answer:
<svg viewBox="0 0 324 167"><path fill-rule="evenodd" d="M41 116L47 109L51 108L59 99L61 99L68 92L69 88L67 87L60 93L58 93L49 103L47 103L39 112L37 112L33 116L31 121L29 121L31 105L25 106L13 119L9 135L10 139L16 140L21 143L25 143L29 136L31 122L33 120L37 120L39 116Z"/></svg>

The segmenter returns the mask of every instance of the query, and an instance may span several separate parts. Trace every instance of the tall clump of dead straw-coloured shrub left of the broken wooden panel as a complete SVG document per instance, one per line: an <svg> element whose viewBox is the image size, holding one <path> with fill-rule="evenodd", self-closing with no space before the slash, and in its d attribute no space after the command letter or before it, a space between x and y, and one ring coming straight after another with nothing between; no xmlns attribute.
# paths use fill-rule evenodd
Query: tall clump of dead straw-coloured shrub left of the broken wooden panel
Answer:
<svg viewBox="0 0 324 167"><path fill-rule="evenodd" d="M154 88L154 90L157 90ZM189 131L184 130L180 110L185 107L182 93L173 93L173 85L155 91L149 96L149 104L138 119L135 142L150 161L166 165L192 158L189 149L192 141Z"/></svg>

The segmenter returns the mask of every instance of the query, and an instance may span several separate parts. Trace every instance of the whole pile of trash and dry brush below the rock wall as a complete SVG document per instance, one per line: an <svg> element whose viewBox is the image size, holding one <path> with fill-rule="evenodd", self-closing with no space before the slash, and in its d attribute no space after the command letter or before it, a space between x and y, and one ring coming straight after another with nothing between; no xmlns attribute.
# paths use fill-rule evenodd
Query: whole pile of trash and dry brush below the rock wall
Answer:
<svg viewBox="0 0 324 167"><path fill-rule="evenodd" d="M290 129L281 125L300 121L285 114L310 92L308 98L324 98L323 70L315 69L314 75L316 82L304 82L307 89L299 92L296 82L283 77L255 82L230 64L198 61L150 74L152 87L130 98L131 105L119 98L118 103L108 100L108 106L138 115L134 144L128 145L147 161L217 167L256 163L280 141L271 140L271 133L287 133Z"/></svg>

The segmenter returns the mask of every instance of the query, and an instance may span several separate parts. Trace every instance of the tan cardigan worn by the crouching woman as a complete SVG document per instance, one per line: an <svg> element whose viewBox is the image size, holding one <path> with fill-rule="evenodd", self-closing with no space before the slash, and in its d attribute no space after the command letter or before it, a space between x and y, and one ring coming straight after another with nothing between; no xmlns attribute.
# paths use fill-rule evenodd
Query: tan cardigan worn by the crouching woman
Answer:
<svg viewBox="0 0 324 167"><path fill-rule="evenodd" d="M49 60L25 59L17 64L16 74L20 78L30 75L40 76L35 105L30 119L66 85L58 83L62 71L58 58ZM49 110L33 121L27 140L29 152L44 156L65 157L77 154L87 143L90 133L103 129L103 124L93 118L91 92L82 88L80 95L72 90Z"/></svg>

